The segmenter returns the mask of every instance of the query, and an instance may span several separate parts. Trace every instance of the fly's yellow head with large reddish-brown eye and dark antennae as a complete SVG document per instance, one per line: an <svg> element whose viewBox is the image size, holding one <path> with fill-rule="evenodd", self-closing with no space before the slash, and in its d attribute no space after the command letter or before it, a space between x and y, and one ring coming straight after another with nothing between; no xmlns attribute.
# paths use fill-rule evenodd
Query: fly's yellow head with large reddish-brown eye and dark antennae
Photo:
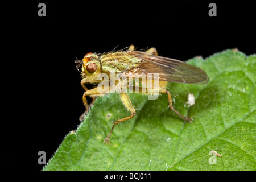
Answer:
<svg viewBox="0 0 256 182"><path fill-rule="evenodd" d="M99 57L92 53L86 53L82 60L77 60L78 63L76 68L81 66L82 78L88 77L92 82L97 80L98 75L101 73L101 63Z"/></svg>

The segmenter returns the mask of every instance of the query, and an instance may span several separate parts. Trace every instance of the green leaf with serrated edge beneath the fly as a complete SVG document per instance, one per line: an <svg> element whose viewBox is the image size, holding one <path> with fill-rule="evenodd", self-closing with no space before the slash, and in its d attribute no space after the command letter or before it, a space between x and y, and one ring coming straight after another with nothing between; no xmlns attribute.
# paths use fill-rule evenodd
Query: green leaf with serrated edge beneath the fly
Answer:
<svg viewBox="0 0 256 182"><path fill-rule="evenodd" d="M85 120L69 133L44 170L255 170L256 55L237 50L195 57L189 64L208 73L207 85L170 83L175 109L193 117L184 122L168 109L166 94L148 100L130 94L130 115L118 94L97 98ZM195 105L188 106L188 94ZM217 151L221 157L210 151Z"/></svg>

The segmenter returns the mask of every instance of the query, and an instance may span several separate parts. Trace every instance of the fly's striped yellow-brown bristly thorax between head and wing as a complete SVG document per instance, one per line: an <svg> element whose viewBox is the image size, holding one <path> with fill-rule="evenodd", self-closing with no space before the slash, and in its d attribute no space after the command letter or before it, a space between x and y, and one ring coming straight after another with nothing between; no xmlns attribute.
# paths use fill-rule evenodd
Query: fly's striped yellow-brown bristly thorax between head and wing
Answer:
<svg viewBox="0 0 256 182"><path fill-rule="evenodd" d="M126 52L107 53L100 57L101 69L104 72L125 72L141 64L141 60Z"/></svg>

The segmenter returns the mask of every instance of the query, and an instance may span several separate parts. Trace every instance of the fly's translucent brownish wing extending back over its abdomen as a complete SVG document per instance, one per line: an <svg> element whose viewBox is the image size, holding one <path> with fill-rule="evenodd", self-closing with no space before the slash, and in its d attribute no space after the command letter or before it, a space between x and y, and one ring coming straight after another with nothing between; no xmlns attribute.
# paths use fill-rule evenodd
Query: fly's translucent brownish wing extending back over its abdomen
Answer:
<svg viewBox="0 0 256 182"><path fill-rule="evenodd" d="M184 63L183 61L155 56L141 51L127 53L141 60L141 64L138 67L130 70L133 73L158 73L159 80L187 84L207 84L209 80L207 73L203 69Z"/></svg>

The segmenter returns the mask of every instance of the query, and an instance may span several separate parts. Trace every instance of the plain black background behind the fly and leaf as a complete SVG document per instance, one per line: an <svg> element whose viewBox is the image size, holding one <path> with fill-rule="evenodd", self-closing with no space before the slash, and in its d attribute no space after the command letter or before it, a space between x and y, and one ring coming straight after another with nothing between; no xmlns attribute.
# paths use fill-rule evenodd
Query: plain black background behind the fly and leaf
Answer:
<svg viewBox="0 0 256 182"><path fill-rule="evenodd" d="M40 2L46 4L46 17L38 16ZM211 2L217 17L208 15ZM5 36L11 52L5 68L15 93L6 130L18 129L19 135L6 138L14 152L6 150L2 161L10 164L19 151L24 154L10 168L31 162L28 168L40 171L38 151L46 151L48 161L79 125L84 106L76 57L131 43L184 61L229 48L256 52L255 8L245 1L31 1L8 7Z"/></svg>

